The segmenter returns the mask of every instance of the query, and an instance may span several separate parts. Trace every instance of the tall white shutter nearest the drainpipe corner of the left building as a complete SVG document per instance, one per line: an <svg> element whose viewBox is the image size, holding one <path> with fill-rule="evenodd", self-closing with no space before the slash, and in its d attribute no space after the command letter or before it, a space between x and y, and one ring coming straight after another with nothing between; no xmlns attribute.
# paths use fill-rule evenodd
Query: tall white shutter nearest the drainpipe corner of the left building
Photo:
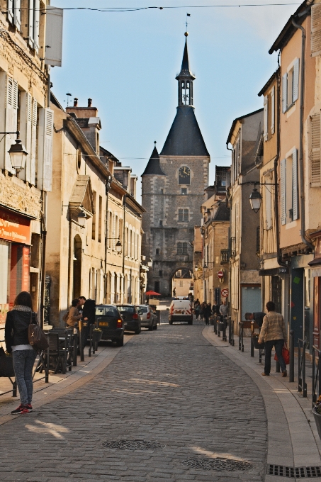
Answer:
<svg viewBox="0 0 321 482"><path fill-rule="evenodd" d="M39 109L37 187L43 191L52 189L53 115L50 108Z"/></svg>

